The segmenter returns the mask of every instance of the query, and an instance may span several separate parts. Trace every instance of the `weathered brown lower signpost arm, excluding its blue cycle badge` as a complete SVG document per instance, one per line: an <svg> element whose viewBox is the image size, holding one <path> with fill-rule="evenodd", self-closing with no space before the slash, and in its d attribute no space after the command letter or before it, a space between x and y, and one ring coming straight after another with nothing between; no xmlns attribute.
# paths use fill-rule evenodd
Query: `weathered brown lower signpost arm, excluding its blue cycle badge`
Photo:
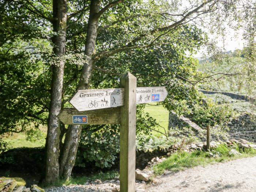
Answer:
<svg viewBox="0 0 256 192"><path fill-rule="evenodd" d="M87 115L89 125L120 124L120 107L89 111L64 108L57 117L65 125L71 125L73 115Z"/></svg>

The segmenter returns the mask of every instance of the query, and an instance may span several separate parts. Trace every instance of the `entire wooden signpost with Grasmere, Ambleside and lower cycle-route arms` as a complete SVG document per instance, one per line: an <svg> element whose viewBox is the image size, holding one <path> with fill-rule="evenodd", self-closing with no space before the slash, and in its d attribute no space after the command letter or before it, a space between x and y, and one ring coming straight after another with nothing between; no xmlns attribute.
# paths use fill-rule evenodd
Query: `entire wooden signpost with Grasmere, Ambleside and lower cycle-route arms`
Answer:
<svg viewBox="0 0 256 192"><path fill-rule="evenodd" d="M120 88L78 90L58 118L64 124L120 124L120 192L135 192L136 104L164 101L165 87L136 87L127 72Z"/></svg>

